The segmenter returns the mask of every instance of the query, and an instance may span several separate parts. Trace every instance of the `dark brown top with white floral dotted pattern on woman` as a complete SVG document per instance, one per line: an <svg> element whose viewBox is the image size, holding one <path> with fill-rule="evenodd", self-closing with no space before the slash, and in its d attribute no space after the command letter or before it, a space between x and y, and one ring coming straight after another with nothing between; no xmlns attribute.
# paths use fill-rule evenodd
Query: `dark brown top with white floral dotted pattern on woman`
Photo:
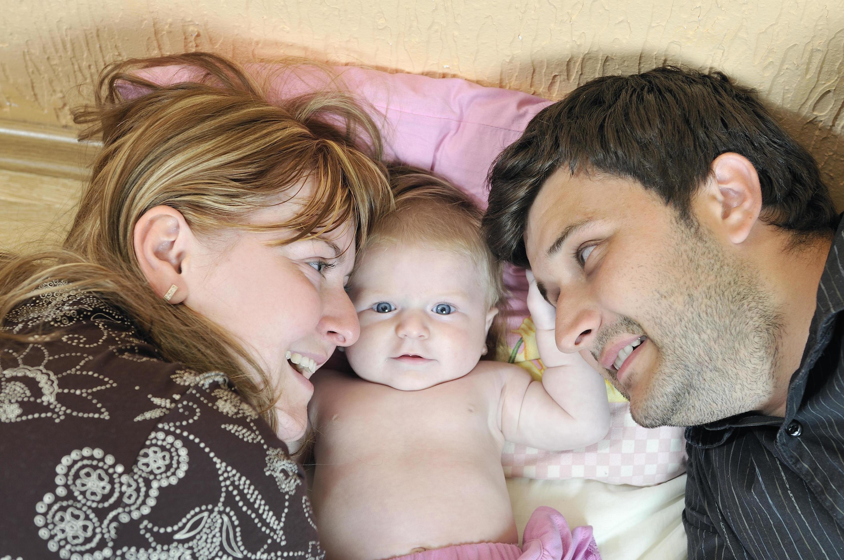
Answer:
<svg viewBox="0 0 844 560"><path fill-rule="evenodd" d="M304 474L226 376L62 283L0 342L0 558L324 557Z"/></svg>

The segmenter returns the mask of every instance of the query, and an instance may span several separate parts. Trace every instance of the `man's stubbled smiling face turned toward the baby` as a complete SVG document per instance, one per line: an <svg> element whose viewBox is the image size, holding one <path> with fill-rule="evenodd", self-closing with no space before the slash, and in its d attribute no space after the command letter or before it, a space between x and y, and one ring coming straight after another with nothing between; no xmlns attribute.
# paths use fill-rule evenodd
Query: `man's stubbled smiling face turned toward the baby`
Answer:
<svg viewBox="0 0 844 560"><path fill-rule="evenodd" d="M770 397L777 314L758 272L655 193L558 170L525 244L557 346L591 354L637 423L707 423Z"/></svg>

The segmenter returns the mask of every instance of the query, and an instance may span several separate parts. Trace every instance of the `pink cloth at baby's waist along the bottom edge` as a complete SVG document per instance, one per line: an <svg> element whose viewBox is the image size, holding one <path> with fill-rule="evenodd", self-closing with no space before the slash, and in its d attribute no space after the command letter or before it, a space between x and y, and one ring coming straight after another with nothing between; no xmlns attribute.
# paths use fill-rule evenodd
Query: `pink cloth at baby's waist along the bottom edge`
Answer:
<svg viewBox="0 0 844 560"><path fill-rule="evenodd" d="M527 521L522 542L522 548L495 542L457 545L395 560L601 560L592 527L569 530L560 512L545 506L537 508Z"/></svg>

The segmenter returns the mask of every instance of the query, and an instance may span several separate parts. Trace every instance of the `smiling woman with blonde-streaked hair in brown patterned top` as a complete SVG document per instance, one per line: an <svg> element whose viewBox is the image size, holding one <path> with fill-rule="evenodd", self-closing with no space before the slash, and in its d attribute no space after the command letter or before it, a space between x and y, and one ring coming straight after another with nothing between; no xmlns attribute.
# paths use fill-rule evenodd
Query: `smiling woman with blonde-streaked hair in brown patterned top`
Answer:
<svg viewBox="0 0 844 560"><path fill-rule="evenodd" d="M205 78L134 73L172 64ZM64 245L0 260L0 556L321 557L279 438L358 335L376 127L206 54L112 65L74 117L103 148Z"/></svg>

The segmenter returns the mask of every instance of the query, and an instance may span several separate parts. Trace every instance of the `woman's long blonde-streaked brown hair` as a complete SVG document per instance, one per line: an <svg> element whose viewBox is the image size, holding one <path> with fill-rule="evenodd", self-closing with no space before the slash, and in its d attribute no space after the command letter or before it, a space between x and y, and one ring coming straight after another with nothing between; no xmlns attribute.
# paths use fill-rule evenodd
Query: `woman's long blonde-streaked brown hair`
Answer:
<svg viewBox="0 0 844 560"><path fill-rule="evenodd" d="M138 77L170 65L190 67L192 81L157 85ZM241 67L206 53L113 63L100 75L94 105L73 117L89 125L80 138L101 137L102 150L62 247L0 255L0 326L16 306L55 289L40 288L51 281L97 293L126 311L165 359L228 374L274 428L268 411L278 384L225 326L154 293L138 266L133 228L165 205L197 234L294 229L289 243L350 222L360 246L371 221L392 207L375 122L337 88L270 103ZM295 196L303 180L314 195L294 218L247 223L257 208ZM32 335L0 329L3 339L29 342Z"/></svg>

